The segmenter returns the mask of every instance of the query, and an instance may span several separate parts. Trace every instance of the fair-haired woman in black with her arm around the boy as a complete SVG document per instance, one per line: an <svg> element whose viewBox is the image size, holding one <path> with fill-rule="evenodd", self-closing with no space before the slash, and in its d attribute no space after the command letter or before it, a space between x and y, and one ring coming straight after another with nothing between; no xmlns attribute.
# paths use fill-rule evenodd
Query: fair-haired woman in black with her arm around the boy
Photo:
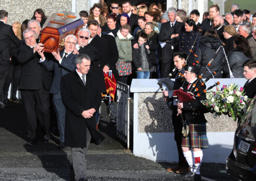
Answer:
<svg viewBox="0 0 256 181"><path fill-rule="evenodd" d="M156 67L157 67L157 59L156 59L156 50L158 49L158 34L154 31L154 24L152 22L147 22L145 25L145 28L142 31L139 31L137 33L137 35L135 36L134 40L133 40L133 47L134 48L138 48L138 38L139 38L139 34L141 32L144 32L148 35L148 40L146 42L146 44L149 46L149 50L150 50L150 62L152 64L152 69L150 72L150 78L151 77L157 77L156 74ZM152 72L153 71L153 72ZM151 73L153 75L151 75Z"/></svg>

